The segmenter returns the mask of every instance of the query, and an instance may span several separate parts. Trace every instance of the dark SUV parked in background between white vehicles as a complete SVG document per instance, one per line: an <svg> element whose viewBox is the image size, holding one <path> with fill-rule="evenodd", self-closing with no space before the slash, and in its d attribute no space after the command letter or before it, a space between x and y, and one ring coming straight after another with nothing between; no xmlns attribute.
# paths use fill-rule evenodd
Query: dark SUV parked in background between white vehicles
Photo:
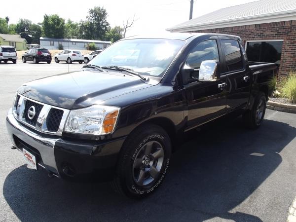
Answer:
<svg viewBox="0 0 296 222"><path fill-rule="evenodd" d="M27 61L33 61L34 63L38 62L47 62L51 63L51 54L48 49L45 48L32 48L25 52L22 56L23 63Z"/></svg>

